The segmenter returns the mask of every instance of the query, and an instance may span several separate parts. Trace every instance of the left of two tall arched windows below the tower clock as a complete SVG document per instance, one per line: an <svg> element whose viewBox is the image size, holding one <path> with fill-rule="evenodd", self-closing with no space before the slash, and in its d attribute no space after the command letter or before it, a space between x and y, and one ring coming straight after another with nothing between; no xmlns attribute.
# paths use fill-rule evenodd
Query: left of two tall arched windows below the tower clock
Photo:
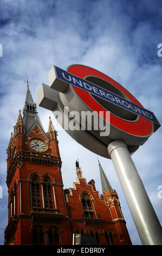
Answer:
<svg viewBox="0 0 162 256"><path fill-rule="evenodd" d="M40 208L40 184L38 180L38 176L35 174L31 179L30 185L30 194L31 194L31 207Z"/></svg>

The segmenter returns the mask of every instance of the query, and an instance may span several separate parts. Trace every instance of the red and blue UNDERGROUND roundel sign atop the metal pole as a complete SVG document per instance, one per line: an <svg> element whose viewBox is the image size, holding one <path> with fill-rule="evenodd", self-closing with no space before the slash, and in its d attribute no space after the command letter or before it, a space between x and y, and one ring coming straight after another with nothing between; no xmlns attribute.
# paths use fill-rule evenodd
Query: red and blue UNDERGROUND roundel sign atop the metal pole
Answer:
<svg viewBox="0 0 162 256"><path fill-rule="evenodd" d="M99 120L102 119L105 127L109 126L106 136L101 136L100 127L65 129L77 142L98 155L110 158L107 147L116 139L123 140L129 153L134 153L160 127L151 111L118 82L98 70L79 64L70 65L67 71L53 66L48 76L49 86L42 84L38 91L40 106L53 113L63 113L66 107L69 122L72 119L70 112L77 111L80 118L82 112L93 112ZM74 117L78 127L81 127L80 118ZM94 120L91 121L94 126Z"/></svg>

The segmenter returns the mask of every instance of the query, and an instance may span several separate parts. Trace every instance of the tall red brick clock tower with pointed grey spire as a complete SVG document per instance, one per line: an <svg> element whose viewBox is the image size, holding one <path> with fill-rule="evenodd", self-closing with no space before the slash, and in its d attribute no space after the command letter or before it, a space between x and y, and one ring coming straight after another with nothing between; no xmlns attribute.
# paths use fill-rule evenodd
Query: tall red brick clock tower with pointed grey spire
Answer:
<svg viewBox="0 0 162 256"><path fill-rule="evenodd" d="M29 85L7 154L9 213L4 244L61 245L60 219L67 227L69 221L57 131L50 117L48 132L44 131ZM66 238L63 242L68 243Z"/></svg>

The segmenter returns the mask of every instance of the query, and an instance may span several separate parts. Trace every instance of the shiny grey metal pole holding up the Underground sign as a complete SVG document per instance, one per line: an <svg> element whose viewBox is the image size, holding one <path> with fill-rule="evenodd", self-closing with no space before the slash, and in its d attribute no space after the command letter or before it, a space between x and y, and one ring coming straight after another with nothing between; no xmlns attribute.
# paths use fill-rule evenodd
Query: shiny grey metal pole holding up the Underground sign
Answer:
<svg viewBox="0 0 162 256"><path fill-rule="evenodd" d="M113 141L107 149L142 245L162 245L161 225L129 154L127 145L123 141Z"/></svg>

